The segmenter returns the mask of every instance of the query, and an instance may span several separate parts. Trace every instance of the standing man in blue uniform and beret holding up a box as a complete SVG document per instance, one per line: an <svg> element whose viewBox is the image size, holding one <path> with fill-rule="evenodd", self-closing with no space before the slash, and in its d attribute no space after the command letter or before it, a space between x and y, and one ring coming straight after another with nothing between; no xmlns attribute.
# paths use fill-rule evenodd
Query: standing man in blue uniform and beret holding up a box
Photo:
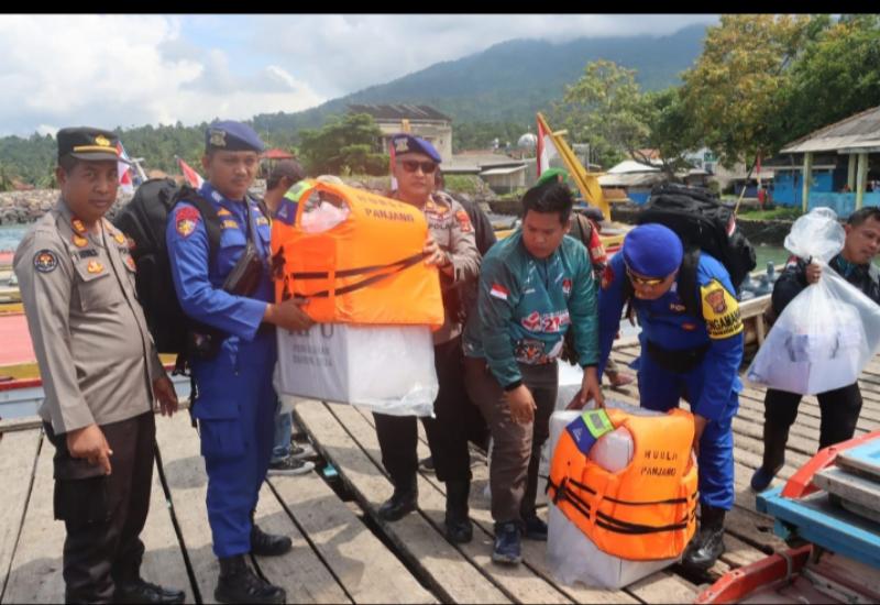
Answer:
<svg viewBox="0 0 880 605"><path fill-rule="evenodd" d="M274 326L311 326L295 299L273 304L268 271L270 217L248 195L263 142L246 124L215 122L205 133L201 164L208 178L198 195L220 219L220 244L209 254L205 220L196 206L180 201L168 215L166 241L177 298L184 312L220 334L219 351L190 359L197 398L201 454L208 473L208 520L220 560L215 598L221 603L283 603L285 591L260 578L245 556L279 556L290 539L272 536L253 521L266 477L274 433L277 359ZM251 237L253 234L253 238ZM223 285L249 240L262 268L248 296Z"/></svg>

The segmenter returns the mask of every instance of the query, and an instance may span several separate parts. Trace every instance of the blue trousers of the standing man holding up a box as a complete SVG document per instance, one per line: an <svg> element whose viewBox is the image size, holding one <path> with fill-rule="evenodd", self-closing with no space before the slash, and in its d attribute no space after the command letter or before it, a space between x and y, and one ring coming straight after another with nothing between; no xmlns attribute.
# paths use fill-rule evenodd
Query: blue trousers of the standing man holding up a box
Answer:
<svg viewBox="0 0 880 605"><path fill-rule="evenodd" d="M274 362L253 365L248 360L241 352L235 359L221 354L210 363L194 364L199 388L194 416L199 420L208 521L219 558L251 551L251 514L272 457Z"/></svg>

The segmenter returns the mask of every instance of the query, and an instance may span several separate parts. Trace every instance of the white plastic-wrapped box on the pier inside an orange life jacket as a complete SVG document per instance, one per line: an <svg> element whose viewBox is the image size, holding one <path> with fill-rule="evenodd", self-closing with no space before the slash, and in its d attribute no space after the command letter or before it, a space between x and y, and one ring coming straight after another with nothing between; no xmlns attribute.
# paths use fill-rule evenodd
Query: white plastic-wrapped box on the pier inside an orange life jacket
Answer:
<svg viewBox="0 0 880 605"><path fill-rule="evenodd" d="M587 409L593 407L587 406ZM606 407L620 408L629 414L661 416L620 402L606 402ZM583 410L556 411L550 417L550 452L556 451L559 438L565 427ZM632 460L632 437L620 427L601 437L590 450L590 459L610 472L625 469ZM551 454L552 457L552 454ZM679 558L657 561L628 561L601 551L581 529L552 502L547 512L547 563L551 573L564 584L582 582L587 586L619 588L637 582L663 568L675 563Z"/></svg>

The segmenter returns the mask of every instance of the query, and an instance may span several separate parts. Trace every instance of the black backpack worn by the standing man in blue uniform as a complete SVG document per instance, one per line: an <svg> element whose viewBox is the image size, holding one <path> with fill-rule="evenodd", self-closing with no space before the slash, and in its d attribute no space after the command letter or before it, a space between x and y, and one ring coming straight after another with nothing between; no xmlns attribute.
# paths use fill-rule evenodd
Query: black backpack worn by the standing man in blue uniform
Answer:
<svg viewBox="0 0 880 605"><path fill-rule="evenodd" d="M213 205L196 189L178 186L170 178L151 178L134 193L120 210L113 224L134 241L131 255L138 264L135 286L144 309L147 328L161 353L186 354L187 332L198 323L187 317L177 301L165 228L168 215L182 199L193 204L205 219L208 231L209 262L220 245L220 219ZM180 359L178 359L178 362Z"/></svg>

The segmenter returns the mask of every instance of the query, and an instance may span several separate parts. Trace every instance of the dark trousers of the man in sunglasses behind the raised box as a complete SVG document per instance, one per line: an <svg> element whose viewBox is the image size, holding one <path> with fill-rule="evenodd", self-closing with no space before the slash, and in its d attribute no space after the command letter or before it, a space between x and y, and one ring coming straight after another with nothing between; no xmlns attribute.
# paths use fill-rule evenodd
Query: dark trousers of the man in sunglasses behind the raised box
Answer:
<svg viewBox="0 0 880 605"><path fill-rule="evenodd" d="M440 391L433 403L436 418L422 418L431 449L437 479L471 480L468 452L468 418L471 407L464 393L461 337L433 348L433 363ZM395 485L405 485L416 476L418 428L415 416L373 414L382 464Z"/></svg>

